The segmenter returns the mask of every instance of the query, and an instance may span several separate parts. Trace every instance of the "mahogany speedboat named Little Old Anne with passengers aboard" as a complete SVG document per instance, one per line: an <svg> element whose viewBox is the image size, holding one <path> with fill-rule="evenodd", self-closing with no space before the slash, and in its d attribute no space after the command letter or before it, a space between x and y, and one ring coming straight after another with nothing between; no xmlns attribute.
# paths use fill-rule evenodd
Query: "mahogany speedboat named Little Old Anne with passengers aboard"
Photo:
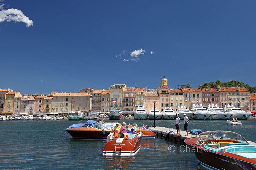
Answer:
<svg viewBox="0 0 256 170"><path fill-rule="evenodd" d="M124 133L125 138L115 138L114 133L107 137L107 143L102 151L105 156L133 156L140 150L140 143L142 136L140 128L137 130L138 134Z"/></svg>

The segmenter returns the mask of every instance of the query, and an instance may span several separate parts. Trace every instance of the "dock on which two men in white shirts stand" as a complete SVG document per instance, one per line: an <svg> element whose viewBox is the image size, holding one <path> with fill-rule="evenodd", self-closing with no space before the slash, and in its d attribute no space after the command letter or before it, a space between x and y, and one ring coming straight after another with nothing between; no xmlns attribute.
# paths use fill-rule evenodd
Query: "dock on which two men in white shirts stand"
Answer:
<svg viewBox="0 0 256 170"><path fill-rule="evenodd" d="M197 137L196 134L190 134L188 132L188 136L185 136L187 134L186 131L184 130L180 130L180 135L177 135L177 129L173 129L173 128L165 128L165 127L149 127L149 129L151 131L153 131L154 133L156 133L156 137L157 138L161 138L161 139L165 139L165 140L168 140L168 141L174 141L175 143L179 143L179 144L184 144L185 145L185 142L184 140L186 138L190 138L190 137ZM170 133L170 131L172 131L172 133ZM255 142L252 142L252 141L248 141L249 144L252 144L252 145L256 145Z"/></svg>

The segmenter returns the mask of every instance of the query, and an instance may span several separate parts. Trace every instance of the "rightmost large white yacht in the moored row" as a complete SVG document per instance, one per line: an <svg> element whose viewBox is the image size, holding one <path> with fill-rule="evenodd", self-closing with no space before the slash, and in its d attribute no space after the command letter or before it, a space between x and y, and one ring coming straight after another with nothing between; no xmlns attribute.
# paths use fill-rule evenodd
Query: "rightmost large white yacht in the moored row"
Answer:
<svg viewBox="0 0 256 170"><path fill-rule="evenodd" d="M238 120L247 120L251 117L252 113L251 112L246 112L240 108L236 108L233 105L228 105L228 106L224 106L224 109L226 111L230 111L233 113L232 115L232 119L238 119Z"/></svg>

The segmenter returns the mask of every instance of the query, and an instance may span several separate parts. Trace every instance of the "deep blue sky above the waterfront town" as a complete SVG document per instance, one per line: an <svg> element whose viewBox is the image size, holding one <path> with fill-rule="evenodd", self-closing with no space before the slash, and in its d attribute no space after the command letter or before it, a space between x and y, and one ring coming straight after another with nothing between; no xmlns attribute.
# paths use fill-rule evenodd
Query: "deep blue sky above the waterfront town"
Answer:
<svg viewBox="0 0 256 170"><path fill-rule="evenodd" d="M235 0L0 0L0 88L154 88L164 75L169 88L216 80L255 86L255 7ZM21 22L14 21L18 10Z"/></svg>

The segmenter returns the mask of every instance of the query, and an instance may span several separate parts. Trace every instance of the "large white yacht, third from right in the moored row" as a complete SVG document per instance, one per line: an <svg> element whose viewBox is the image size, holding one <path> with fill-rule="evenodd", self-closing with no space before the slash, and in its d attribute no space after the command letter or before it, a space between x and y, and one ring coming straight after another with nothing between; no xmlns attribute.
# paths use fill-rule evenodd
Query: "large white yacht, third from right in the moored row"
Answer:
<svg viewBox="0 0 256 170"><path fill-rule="evenodd" d="M203 108L202 104L200 105L193 104L192 113L193 113L193 119L195 120L211 120L213 116L213 113Z"/></svg>

